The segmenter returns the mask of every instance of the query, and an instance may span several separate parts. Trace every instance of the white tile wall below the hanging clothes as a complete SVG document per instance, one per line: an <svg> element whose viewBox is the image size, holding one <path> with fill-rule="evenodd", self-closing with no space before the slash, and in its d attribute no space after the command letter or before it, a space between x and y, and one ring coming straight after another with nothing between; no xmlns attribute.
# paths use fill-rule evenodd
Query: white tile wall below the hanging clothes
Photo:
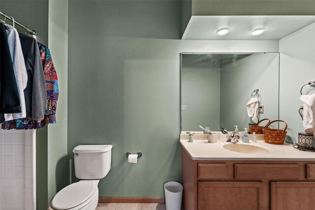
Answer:
<svg viewBox="0 0 315 210"><path fill-rule="evenodd" d="M35 209L34 143L34 130L0 129L0 210Z"/></svg>

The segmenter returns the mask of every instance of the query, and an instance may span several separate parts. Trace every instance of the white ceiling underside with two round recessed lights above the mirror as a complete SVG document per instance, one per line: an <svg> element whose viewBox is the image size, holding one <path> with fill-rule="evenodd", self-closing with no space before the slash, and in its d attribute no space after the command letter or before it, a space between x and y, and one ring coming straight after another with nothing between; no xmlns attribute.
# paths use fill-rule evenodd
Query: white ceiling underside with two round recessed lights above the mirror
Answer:
<svg viewBox="0 0 315 210"><path fill-rule="evenodd" d="M279 40L315 23L315 16L191 16L182 39L193 40ZM229 28L225 35L217 30ZM253 36L257 28L266 30Z"/></svg>

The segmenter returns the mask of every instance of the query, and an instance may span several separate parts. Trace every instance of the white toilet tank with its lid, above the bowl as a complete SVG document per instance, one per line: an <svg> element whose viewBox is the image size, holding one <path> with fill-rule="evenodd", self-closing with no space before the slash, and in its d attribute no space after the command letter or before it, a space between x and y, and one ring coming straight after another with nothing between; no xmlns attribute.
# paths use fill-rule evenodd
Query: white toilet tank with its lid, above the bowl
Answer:
<svg viewBox="0 0 315 210"><path fill-rule="evenodd" d="M81 180L99 180L110 170L112 145L79 145L73 149L75 176Z"/></svg>

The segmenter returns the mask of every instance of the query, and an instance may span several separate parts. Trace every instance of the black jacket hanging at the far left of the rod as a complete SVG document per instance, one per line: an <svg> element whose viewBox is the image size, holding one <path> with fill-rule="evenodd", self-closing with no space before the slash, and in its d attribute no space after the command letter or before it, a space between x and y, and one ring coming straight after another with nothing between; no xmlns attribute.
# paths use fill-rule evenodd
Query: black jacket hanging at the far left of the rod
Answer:
<svg viewBox="0 0 315 210"><path fill-rule="evenodd" d="M19 91L15 80L13 63L6 30L0 24L0 122L5 113L21 112Z"/></svg>

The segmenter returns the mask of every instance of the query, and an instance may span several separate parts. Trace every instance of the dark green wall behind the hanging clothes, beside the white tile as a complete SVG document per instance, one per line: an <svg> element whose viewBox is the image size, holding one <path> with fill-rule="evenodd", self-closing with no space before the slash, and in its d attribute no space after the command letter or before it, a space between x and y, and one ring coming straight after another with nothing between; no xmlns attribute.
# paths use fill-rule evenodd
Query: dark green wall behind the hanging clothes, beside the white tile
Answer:
<svg viewBox="0 0 315 210"><path fill-rule="evenodd" d="M48 45L48 0L1 0L0 11L37 32L37 40ZM1 17L2 19L2 17ZM3 20L3 19L2 19ZM8 21L8 23L10 23ZM20 30L20 32L24 32ZM36 131L37 209L47 209L47 127Z"/></svg>

